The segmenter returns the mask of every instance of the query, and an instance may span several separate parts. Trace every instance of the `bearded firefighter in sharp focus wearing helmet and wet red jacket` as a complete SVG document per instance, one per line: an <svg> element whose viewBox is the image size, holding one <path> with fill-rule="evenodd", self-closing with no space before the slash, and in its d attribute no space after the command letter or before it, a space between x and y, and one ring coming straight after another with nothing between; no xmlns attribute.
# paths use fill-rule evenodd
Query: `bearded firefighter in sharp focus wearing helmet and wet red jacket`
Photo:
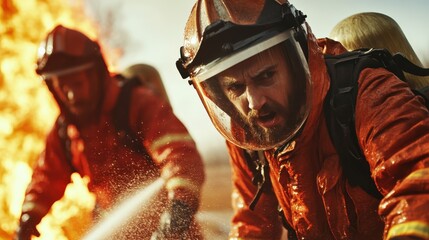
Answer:
<svg viewBox="0 0 429 240"><path fill-rule="evenodd" d="M187 21L177 67L228 140L230 239L279 239L282 225L288 239L429 239L423 98L384 68L360 73L355 130L381 198L352 185L323 112L323 55L346 50L305 17L287 1L198 0Z"/></svg>

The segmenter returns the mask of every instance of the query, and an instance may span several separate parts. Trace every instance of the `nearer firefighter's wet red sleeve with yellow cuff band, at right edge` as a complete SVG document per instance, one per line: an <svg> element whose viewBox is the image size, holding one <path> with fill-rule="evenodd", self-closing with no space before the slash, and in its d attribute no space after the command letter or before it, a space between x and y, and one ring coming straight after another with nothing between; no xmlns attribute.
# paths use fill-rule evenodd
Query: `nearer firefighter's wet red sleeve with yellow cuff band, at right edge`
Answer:
<svg viewBox="0 0 429 240"><path fill-rule="evenodd" d="M384 69L367 69L356 104L359 142L384 198L385 239L429 239L429 113L421 97Z"/></svg>

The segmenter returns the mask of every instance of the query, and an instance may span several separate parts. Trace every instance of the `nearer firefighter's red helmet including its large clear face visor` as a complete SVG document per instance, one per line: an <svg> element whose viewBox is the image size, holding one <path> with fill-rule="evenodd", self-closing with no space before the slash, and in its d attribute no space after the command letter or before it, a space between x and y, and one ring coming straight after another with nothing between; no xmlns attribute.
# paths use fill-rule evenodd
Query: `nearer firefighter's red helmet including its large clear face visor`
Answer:
<svg viewBox="0 0 429 240"><path fill-rule="evenodd" d="M183 78L191 78L227 140L246 149L270 149L289 141L303 126L311 89L305 18L285 0L198 0L194 5L176 66ZM262 86L263 98L271 103L254 109L243 79L251 64L264 61L272 69L282 65L282 77L270 83L271 89ZM271 94L273 90L280 94Z"/></svg>

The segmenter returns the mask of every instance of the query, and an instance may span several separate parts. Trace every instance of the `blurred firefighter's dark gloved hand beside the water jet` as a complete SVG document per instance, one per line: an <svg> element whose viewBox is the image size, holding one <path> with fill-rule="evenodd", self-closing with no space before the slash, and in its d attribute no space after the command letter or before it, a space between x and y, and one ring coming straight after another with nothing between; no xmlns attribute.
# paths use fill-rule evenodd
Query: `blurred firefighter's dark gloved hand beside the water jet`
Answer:
<svg viewBox="0 0 429 240"><path fill-rule="evenodd" d="M170 207L161 215L158 229L151 240L189 239L187 232L193 219L192 209L180 200L172 200Z"/></svg>

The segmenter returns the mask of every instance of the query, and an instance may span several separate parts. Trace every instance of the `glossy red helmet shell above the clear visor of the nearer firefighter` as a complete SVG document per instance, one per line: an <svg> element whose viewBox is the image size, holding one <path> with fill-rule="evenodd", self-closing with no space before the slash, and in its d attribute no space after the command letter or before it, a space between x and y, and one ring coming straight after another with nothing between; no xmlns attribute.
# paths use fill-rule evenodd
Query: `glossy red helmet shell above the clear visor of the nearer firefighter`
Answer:
<svg viewBox="0 0 429 240"><path fill-rule="evenodd" d="M267 37L260 33L275 27L295 29L294 37L307 54L301 27L305 18L286 0L198 0L185 27L178 70L187 78L193 67L248 47Z"/></svg>

